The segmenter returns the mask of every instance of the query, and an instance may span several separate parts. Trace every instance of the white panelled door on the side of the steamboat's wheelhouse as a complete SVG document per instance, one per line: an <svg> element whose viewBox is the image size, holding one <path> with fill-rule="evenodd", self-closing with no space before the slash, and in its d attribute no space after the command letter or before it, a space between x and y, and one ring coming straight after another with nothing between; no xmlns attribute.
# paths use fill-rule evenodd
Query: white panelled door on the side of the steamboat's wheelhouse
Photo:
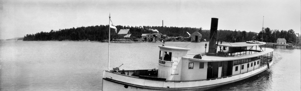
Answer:
<svg viewBox="0 0 301 91"><path fill-rule="evenodd" d="M172 71L171 74L179 74L179 68L178 68L178 63L180 61L180 53L179 52L174 52L172 53Z"/></svg>

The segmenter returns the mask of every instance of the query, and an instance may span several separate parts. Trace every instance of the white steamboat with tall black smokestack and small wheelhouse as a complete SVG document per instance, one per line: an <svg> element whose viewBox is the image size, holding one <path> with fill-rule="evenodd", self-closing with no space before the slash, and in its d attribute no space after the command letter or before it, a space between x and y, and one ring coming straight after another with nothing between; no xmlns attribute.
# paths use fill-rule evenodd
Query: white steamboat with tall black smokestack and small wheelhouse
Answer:
<svg viewBox="0 0 301 91"><path fill-rule="evenodd" d="M244 80L273 65L273 49L265 42L216 41L218 19L211 19L208 52L158 46L158 69L106 70L103 91L201 91ZM206 48L206 47L205 47Z"/></svg>

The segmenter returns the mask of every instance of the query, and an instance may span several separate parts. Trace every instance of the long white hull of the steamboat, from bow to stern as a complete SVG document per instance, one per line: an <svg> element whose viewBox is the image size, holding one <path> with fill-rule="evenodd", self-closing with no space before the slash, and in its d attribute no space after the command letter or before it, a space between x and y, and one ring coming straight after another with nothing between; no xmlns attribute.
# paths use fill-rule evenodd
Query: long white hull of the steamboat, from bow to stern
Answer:
<svg viewBox="0 0 301 91"><path fill-rule="evenodd" d="M273 65L273 61L269 63ZM103 91L203 91L257 75L269 69L262 66L244 74L204 81L153 81L104 71ZM166 87L168 86L168 87Z"/></svg>

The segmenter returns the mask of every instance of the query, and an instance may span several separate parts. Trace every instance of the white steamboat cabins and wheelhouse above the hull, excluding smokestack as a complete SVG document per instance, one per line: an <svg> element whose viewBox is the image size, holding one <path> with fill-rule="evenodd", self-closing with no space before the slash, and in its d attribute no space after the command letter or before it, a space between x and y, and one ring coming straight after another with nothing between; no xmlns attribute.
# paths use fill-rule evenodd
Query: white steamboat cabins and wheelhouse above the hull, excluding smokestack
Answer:
<svg viewBox="0 0 301 91"><path fill-rule="evenodd" d="M272 61L272 49L265 43L217 44L216 56L205 53L187 53L190 49L159 46L158 78L167 81L215 79L250 72ZM196 57L200 55L201 57Z"/></svg>

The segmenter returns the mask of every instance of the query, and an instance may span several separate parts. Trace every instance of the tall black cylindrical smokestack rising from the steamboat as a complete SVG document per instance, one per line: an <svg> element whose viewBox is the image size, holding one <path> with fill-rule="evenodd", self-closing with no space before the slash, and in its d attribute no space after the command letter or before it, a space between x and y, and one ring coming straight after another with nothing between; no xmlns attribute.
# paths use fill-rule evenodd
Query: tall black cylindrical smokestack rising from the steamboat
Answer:
<svg viewBox="0 0 301 91"><path fill-rule="evenodd" d="M210 41L207 56L216 56L216 35L219 19L211 18Z"/></svg>

